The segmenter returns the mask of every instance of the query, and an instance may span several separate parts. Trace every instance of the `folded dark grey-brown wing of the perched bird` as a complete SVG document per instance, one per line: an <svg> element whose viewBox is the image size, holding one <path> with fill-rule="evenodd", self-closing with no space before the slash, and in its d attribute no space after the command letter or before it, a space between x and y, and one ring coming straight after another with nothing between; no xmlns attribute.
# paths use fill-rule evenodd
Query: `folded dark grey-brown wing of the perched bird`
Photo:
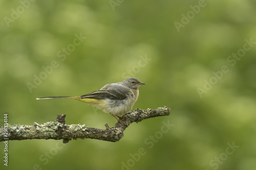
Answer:
<svg viewBox="0 0 256 170"><path fill-rule="evenodd" d="M81 99L112 99L123 100L127 98L127 94L130 92L129 88L119 84L107 84L101 89L91 92L89 94L81 95Z"/></svg>

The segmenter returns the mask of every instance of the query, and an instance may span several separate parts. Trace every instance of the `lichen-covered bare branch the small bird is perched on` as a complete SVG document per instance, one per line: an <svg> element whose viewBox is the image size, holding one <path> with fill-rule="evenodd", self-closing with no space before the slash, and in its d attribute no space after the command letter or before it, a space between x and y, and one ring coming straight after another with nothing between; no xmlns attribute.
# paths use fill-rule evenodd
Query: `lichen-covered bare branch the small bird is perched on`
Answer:
<svg viewBox="0 0 256 170"><path fill-rule="evenodd" d="M144 119L167 116L170 114L170 109L162 107L158 109L141 110L136 109L126 113L121 117L122 123L117 123L115 127L110 128L105 124L106 129L89 128L86 125L66 125L65 114L58 114L55 122L47 122L44 124L34 123L30 125L8 125L8 137L4 136L4 127L0 127L0 141L6 140L25 140L25 139L63 139L63 143L69 142L71 139L99 139L105 141L116 142L123 137L123 131L132 123L141 122Z"/></svg>

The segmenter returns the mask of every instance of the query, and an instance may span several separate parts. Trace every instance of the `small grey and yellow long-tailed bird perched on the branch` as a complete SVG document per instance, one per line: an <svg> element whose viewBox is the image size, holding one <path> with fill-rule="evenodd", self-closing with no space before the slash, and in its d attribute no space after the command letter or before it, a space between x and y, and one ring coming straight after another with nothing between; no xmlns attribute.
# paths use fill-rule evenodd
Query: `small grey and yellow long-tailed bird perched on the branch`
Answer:
<svg viewBox="0 0 256 170"><path fill-rule="evenodd" d="M139 96L139 87L140 85L144 84L146 83L140 82L138 79L131 77L125 79L123 82L106 84L97 91L81 96L53 96L36 99L75 99L99 108L103 110L103 112L109 113L110 115L115 117L118 122L125 124L120 120L120 117L118 115L125 114L132 110L133 105L135 104Z"/></svg>

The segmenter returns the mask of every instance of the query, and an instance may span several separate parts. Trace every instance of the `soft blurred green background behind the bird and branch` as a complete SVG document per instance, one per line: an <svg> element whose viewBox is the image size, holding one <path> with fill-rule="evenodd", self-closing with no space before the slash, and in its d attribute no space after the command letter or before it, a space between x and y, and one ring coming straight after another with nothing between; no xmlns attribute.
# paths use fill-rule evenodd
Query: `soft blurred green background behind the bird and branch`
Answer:
<svg viewBox="0 0 256 170"><path fill-rule="evenodd" d="M9 141L5 168L256 169L256 44L245 41L256 41L255 7L252 0L0 1L0 126L7 112L11 125L67 114L67 124L113 127L112 116L82 102L35 99L82 95L127 77L147 83L133 109L171 109L132 124L115 143ZM238 52L243 57L229 58ZM173 124L167 133L163 122ZM0 150L2 169L3 142Z"/></svg>

